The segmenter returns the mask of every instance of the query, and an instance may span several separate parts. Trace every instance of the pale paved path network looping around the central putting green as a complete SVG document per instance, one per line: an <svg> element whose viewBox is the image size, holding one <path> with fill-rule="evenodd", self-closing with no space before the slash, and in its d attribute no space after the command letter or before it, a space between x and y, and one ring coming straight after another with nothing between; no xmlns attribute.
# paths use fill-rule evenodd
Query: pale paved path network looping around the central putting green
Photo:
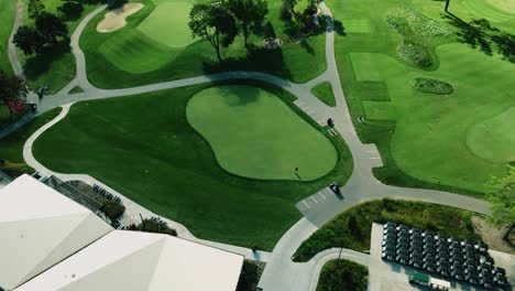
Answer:
<svg viewBox="0 0 515 291"><path fill-rule="evenodd" d="M328 30L326 34L327 71L310 82L307 82L305 84L294 84L277 76L264 73L228 72L113 90L98 89L88 82L85 56L79 47L79 37L84 28L95 15L101 13L105 9L106 6L101 6L95 11L92 11L90 14L88 14L86 18L84 18L77 26L77 30L73 33L70 45L76 58L77 75L75 79L65 88L63 88L59 93L57 93L55 96L46 97L44 101L40 105L39 114L45 112L52 108L59 106L63 107L63 110L54 120L40 128L36 132L34 132L33 136L31 136L28 139L23 148L23 158L28 164L30 164L31 166L33 166L34 169L36 169L45 175L56 175L64 181L81 180L90 185L98 184L107 188L111 193L116 194L117 196L120 196L127 207L127 214L122 219L123 224L139 222L140 214L144 215L145 217L156 215L150 212L149 209L142 207L141 205L136 204L135 202L127 198L121 193L118 193L116 190L112 190L108 185L105 185L103 183L97 181L95 177L91 177L86 174L56 173L45 168L32 154L33 142L45 130L64 119L67 116L72 105L76 101L113 98L169 88L178 88L215 80L242 78L267 82L288 90L300 100L296 104L303 110L310 114L310 116L316 116L319 122L321 122L320 120L327 120L328 118L332 118L336 123L336 130L346 140L353 158L353 173L350 180L347 182L347 184L342 187L343 197L338 198L336 195L330 195L331 193L328 193L327 191L324 192L322 190L322 192L320 193L315 193L311 201L308 202L305 200L297 203L297 207L304 214L305 217L303 217L286 234L284 234L284 236L275 246L272 254L253 254L252 250L246 248L201 240L196 238L191 233L189 233L185 226L162 217L168 223L168 225L171 225L171 227L177 229L178 235L180 237L211 245L229 251L242 254L246 258L266 261L267 265L259 284L261 288L263 288L263 290L315 290L316 284L318 282L318 274L321 269L321 266L324 266L324 263L328 260L335 258L335 256L338 255L336 254L337 250L330 249L322 251L307 263L293 262L293 254L305 239L307 239L313 233L315 233L318 229L319 226L327 223L331 217L333 217L338 213L349 207L352 207L359 203L375 198L396 197L451 205L480 213L490 212L489 204L484 201L441 191L404 188L384 185L375 179L375 176L372 173L372 169L376 166L382 166L382 160L375 144L362 143L354 130L351 120L351 115L344 98L344 91L340 83L340 76L335 56L335 33L332 31L332 15L329 8L324 2L320 3L320 9L326 15L328 15ZM19 25L20 21L21 19L17 18L18 24L15 23L14 25ZM12 44L10 44L9 48L10 56L11 46ZM14 57L10 60L13 67L15 67L18 58ZM14 68L14 71L15 69L17 68ZM21 71L21 66L19 67L19 69ZM313 86L321 82L329 82L331 84L337 103L336 107L331 108L311 95L310 89L313 88ZM75 86L80 86L85 91L80 94L69 95L68 91ZM6 132L7 131L12 132L13 130L7 129ZM2 132L0 132L0 138L2 136L1 133ZM319 197L316 195L319 195ZM318 200L316 197L318 197ZM340 249L338 249L338 252L339 251ZM352 259L357 262L366 266L370 262L370 256L352 250L342 250L342 257Z"/></svg>

